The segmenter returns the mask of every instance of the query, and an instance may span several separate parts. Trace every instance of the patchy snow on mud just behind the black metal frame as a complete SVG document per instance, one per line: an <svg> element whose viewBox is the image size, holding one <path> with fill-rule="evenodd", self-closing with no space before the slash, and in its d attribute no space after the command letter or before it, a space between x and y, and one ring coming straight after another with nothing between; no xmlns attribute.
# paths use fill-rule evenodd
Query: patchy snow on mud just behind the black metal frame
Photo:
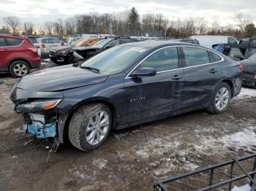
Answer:
<svg viewBox="0 0 256 191"><path fill-rule="evenodd" d="M184 131L172 133L166 136L148 139L148 141L135 146L135 155L141 160L156 160L157 156L164 155L154 163L157 169L155 176L168 174L177 170L178 164L183 164L181 170L193 171L200 168L197 160L188 161L187 155L196 157L222 156L230 149L238 151L243 149L246 152L254 152L256 149L256 122L255 120L236 120L230 118L227 122L214 122L214 128L207 125L193 125L194 130L188 136L194 136L195 141L184 143L181 137ZM236 123L236 129L233 124ZM219 133L222 132L222 133ZM170 155L165 155L171 153ZM153 163L153 165L154 165Z"/></svg>

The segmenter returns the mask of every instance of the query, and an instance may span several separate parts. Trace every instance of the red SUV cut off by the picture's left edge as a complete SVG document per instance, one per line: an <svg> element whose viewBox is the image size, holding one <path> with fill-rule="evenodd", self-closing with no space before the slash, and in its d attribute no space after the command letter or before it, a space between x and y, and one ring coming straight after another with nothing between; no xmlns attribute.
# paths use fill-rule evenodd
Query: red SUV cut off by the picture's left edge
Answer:
<svg viewBox="0 0 256 191"><path fill-rule="evenodd" d="M28 38L0 34L0 73L23 77L40 65L37 47Z"/></svg>

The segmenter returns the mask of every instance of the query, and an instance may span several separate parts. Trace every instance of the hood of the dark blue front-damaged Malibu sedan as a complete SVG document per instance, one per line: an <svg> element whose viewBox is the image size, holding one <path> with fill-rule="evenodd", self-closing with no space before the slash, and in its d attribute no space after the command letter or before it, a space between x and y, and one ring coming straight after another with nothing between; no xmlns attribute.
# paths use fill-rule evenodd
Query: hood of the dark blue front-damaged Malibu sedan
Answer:
<svg viewBox="0 0 256 191"><path fill-rule="evenodd" d="M108 76L104 74L96 74L87 69L67 65L29 74L20 80L17 87L37 92L59 92L99 84L105 82L107 78Z"/></svg>

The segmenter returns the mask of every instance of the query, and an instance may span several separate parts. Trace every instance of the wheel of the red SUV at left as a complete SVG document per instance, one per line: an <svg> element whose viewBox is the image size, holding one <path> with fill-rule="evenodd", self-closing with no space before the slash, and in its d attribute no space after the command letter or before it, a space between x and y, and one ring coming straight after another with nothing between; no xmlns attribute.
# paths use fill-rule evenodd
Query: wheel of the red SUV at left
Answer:
<svg viewBox="0 0 256 191"><path fill-rule="evenodd" d="M29 74L29 64L24 61L14 61L10 65L10 73L12 77L23 77Z"/></svg>

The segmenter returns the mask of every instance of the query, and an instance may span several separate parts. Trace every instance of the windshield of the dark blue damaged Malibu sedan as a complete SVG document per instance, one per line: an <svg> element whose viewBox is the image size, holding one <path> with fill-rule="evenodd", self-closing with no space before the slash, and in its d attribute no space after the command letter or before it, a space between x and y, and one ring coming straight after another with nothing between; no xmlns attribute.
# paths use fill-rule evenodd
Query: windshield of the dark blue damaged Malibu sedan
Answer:
<svg viewBox="0 0 256 191"><path fill-rule="evenodd" d="M118 46L95 55L81 64L81 67L99 69L100 73L111 74L127 68L133 61L143 55L148 47Z"/></svg>

